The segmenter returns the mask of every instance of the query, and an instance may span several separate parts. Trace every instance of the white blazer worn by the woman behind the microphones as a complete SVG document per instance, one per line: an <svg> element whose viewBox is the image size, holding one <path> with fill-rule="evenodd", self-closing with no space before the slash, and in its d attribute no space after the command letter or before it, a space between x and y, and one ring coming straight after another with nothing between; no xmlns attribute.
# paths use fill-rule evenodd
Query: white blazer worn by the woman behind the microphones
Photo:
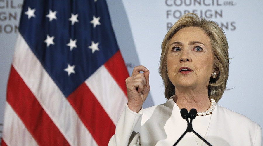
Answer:
<svg viewBox="0 0 263 146"><path fill-rule="evenodd" d="M126 106L108 146L172 146L186 128L186 120L172 98L139 113ZM263 146L262 130L257 123L219 105L211 114L204 138L213 146ZM184 145L198 146L192 133L188 132L177 144ZM203 142L202 146L205 145Z"/></svg>

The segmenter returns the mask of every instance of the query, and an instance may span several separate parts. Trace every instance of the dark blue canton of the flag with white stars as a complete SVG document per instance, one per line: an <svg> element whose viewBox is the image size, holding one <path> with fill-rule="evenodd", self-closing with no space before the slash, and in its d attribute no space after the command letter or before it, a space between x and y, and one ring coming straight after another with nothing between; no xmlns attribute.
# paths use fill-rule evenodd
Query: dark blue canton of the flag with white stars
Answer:
<svg viewBox="0 0 263 146"><path fill-rule="evenodd" d="M105 0L25 0L19 31L65 97L119 50Z"/></svg>

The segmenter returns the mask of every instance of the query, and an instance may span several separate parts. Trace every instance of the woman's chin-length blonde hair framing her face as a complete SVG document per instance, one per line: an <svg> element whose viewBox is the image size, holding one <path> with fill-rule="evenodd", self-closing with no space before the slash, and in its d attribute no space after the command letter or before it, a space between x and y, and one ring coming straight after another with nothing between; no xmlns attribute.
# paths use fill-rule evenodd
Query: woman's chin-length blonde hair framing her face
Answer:
<svg viewBox="0 0 263 146"><path fill-rule="evenodd" d="M226 82L228 79L228 43L224 31L215 22L200 18L194 13L184 14L171 27L163 39L159 73L165 86L165 98L169 99L170 96L175 95L175 87L167 75L167 52L169 42L176 32L185 27L200 27L210 38L214 57L214 72L217 72L217 77L215 79L210 78L208 97L218 102L226 89Z"/></svg>

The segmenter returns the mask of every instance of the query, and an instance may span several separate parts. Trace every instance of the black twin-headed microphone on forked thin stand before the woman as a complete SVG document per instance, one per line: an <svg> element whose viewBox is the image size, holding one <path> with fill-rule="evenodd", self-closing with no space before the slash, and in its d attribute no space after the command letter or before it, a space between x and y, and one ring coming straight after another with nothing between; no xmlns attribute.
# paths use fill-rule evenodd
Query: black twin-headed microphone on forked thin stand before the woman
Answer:
<svg viewBox="0 0 263 146"><path fill-rule="evenodd" d="M187 109L183 108L181 109L180 113L183 119L187 121L187 128L186 128L186 131L183 133L183 135L174 143L173 146L176 146L187 132L195 133L195 135L198 136L201 140L203 140L207 145L212 146L209 142L207 142L204 138L202 138L202 136L200 136L198 133L196 133L193 130L192 121L196 117L196 114L197 114L196 109L191 109L190 112L188 113ZM190 118L190 122L189 122L189 118Z"/></svg>

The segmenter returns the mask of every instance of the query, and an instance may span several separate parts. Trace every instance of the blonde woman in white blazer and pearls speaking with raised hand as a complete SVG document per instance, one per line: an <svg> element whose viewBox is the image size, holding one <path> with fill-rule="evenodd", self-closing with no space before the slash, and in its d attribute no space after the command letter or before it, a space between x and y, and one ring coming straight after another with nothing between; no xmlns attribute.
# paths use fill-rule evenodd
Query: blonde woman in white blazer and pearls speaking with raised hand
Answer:
<svg viewBox="0 0 263 146"><path fill-rule="evenodd" d="M172 146L187 128L180 109L194 108L198 116L193 129L213 146L262 146L258 124L216 104L226 88L228 69L228 44L222 29L196 14L183 15L162 42L159 71L167 102L142 109L150 91L149 71L134 67L126 79L128 104L109 145ZM206 144L187 133L178 145Z"/></svg>

